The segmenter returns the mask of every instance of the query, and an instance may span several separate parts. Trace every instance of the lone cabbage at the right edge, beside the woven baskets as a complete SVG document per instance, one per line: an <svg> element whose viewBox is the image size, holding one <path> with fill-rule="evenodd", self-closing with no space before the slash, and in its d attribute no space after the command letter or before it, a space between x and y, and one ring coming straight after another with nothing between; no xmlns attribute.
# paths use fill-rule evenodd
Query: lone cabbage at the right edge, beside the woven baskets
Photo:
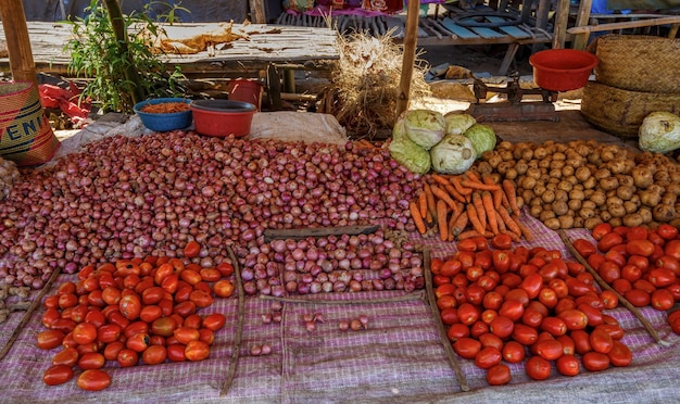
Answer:
<svg viewBox="0 0 680 404"><path fill-rule="evenodd" d="M667 153L680 148L680 116L670 112L653 112L645 116L638 132L640 149Z"/></svg>

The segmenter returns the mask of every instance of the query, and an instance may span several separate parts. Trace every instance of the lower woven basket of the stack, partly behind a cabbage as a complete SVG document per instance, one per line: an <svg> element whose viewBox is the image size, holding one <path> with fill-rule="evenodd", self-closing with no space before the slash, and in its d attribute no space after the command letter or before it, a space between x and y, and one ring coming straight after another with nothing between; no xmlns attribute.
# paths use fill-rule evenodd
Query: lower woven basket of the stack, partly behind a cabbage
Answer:
<svg viewBox="0 0 680 404"><path fill-rule="evenodd" d="M588 81L581 113L588 122L609 134L638 137L642 119L655 111L680 113L680 93L628 91Z"/></svg>

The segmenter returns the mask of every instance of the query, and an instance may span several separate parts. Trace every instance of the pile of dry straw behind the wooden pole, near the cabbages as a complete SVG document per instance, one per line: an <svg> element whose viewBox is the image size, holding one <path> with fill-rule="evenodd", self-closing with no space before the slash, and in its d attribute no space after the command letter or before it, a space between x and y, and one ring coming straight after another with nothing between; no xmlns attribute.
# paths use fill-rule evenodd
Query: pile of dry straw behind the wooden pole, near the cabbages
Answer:
<svg viewBox="0 0 680 404"><path fill-rule="evenodd" d="M351 139L380 139L391 134L396 121L396 101L403 47L391 33L372 37L362 33L339 39L340 60L322 101L323 110L336 116ZM411 100L429 94L426 62L416 54Z"/></svg>

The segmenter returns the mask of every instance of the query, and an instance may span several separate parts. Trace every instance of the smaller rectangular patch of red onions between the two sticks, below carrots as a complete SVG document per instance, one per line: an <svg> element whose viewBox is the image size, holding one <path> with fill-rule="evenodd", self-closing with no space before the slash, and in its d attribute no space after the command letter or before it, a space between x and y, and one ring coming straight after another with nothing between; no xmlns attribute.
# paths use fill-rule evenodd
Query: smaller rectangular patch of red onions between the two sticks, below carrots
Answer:
<svg viewBox="0 0 680 404"><path fill-rule="evenodd" d="M423 256L379 229L372 235L256 242L237 250L247 294L316 294L424 287Z"/></svg>

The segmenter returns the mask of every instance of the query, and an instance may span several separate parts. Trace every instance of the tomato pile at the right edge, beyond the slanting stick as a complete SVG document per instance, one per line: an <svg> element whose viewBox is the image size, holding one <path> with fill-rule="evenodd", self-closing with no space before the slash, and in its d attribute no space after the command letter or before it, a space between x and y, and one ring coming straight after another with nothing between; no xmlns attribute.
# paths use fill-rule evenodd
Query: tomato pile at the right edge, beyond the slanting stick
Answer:
<svg viewBox="0 0 680 404"><path fill-rule="evenodd" d="M660 225L593 228L596 244L579 239L577 251L588 260L604 281L637 307L651 305L668 311L680 302L680 237L678 229ZM669 317L671 329L680 333L678 315Z"/></svg>

